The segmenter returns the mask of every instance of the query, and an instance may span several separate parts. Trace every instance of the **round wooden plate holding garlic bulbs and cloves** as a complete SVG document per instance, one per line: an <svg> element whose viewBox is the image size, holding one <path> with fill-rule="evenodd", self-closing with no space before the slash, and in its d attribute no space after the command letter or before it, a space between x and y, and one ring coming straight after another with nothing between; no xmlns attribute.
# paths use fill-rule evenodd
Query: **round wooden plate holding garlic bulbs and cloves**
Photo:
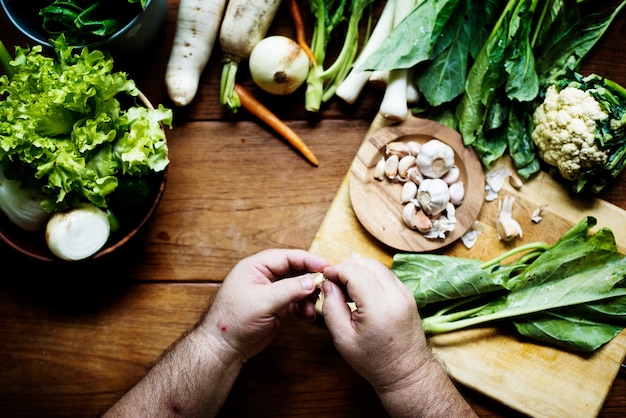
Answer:
<svg viewBox="0 0 626 418"><path fill-rule="evenodd" d="M457 207L457 224L446 237L426 238L402 221L400 197L402 184L374 178L374 167L394 141L424 143L439 139L450 145L461 171L465 198ZM359 149L350 170L350 200L359 222L382 243L401 251L428 252L460 238L472 226L482 207L485 174L473 149L463 144L461 135L438 122L409 117L405 121L379 129Z"/></svg>

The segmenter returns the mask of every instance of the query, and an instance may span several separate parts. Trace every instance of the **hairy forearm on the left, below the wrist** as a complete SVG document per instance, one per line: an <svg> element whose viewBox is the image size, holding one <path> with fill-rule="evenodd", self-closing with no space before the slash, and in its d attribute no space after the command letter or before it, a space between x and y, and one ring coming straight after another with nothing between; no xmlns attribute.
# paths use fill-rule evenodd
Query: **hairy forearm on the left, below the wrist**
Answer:
<svg viewBox="0 0 626 418"><path fill-rule="evenodd" d="M105 417L211 417L241 370L202 328L177 341Z"/></svg>

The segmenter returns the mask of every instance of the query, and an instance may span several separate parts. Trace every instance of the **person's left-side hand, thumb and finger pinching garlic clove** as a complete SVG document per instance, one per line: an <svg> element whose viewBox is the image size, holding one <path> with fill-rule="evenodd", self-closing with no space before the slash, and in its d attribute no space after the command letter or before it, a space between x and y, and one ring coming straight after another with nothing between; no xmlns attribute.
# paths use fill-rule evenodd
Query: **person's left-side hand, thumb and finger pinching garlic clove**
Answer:
<svg viewBox="0 0 626 418"><path fill-rule="evenodd" d="M201 327L242 362L265 348L290 315L315 316L310 272L328 262L303 250L271 249L241 260L224 280Z"/></svg>

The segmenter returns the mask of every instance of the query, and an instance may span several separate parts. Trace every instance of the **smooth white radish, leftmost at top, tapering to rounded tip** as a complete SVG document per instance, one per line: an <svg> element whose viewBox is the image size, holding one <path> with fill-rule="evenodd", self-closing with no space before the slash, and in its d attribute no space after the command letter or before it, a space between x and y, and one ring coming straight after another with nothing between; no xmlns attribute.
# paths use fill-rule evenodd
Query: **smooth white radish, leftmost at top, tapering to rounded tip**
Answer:
<svg viewBox="0 0 626 418"><path fill-rule="evenodd" d="M165 84L176 106L186 106L198 91L200 76L217 40L227 0L180 0Z"/></svg>

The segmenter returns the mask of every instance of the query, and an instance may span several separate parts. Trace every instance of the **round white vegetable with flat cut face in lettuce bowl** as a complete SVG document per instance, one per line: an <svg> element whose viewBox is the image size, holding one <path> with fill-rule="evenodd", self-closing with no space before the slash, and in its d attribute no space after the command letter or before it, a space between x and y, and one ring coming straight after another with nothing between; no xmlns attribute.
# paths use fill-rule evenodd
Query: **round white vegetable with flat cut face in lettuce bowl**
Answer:
<svg viewBox="0 0 626 418"><path fill-rule="evenodd" d="M46 243L50 251L63 260L83 260L104 246L110 232L106 212L85 203L52 215L46 225Z"/></svg>

